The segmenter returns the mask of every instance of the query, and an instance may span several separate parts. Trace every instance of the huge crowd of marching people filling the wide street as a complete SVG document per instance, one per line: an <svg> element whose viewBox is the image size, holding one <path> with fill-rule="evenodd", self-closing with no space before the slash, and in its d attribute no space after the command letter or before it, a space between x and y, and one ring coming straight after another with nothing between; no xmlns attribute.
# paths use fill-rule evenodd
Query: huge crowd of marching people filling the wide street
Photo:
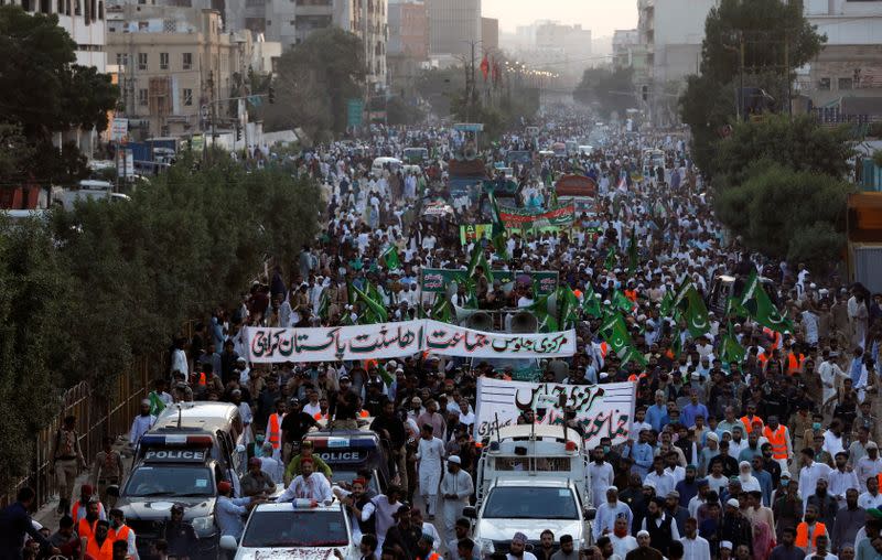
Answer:
<svg viewBox="0 0 882 560"><path fill-rule="evenodd" d="M558 116L538 134L506 136L481 157L493 170L512 150L599 138L595 127L584 122ZM574 549L569 535L546 531L539 542L529 542L514 532L507 558L882 559L876 444L882 297L836 276L816 278L800 263L752 254L729 238L676 134L647 139L611 126L601 139L592 153L534 155L530 164L516 163L513 170L518 184L513 204L552 204L553 179L574 172L596 181L595 212L577 216L572 228L513 234L506 255L487 243L483 250L490 270L475 269L477 306L501 313L533 309L537 294L529 282L490 280L493 271L557 271L561 284L596 294L604 306L624 294L631 302L626 326L644 358L624 362L607 352L601 319L580 312L577 354L564 360L564 375L559 364L541 365L541 380L636 384L635 414L627 441L606 439L591 451L593 543ZM449 194L447 161L464 142L443 129L378 127L364 142L367 150L335 143L304 152L295 166L321 182L327 202L319 239L303 248L297 262L279 263L255 281L238 305L213 310L192 336L175 340L169 379L158 380L153 397L166 403L233 402L252 434L241 495L234 497L228 482L218 487L217 523L225 534L239 536L249 508L283 485L277 499L340 499L363 558L482 556L471 539L471 524L462 518L462 508L474 499L481 451L473 430L475 384L480 376L508 373L434 355L249 364L244 334L246 326L257 325L357 323L367 309L349 297L349 286L373 287L391 322L431 315L437 297L422 292L420 271L465 269L481 250L474 247L481 241L462 243L459 220L486 213L483 197L472 202L467 216L421 214L424 204ZM413 146L429 148L433 158L421 172L372 168L375 155L399 155ZM664 150L665 163L647 165L645 148ZM634 241L637 261L628 266ZM391 247L399 256L396 268L380 258ZM734 277L743 286L751 273L766 279L768 295L792 330L776 332L730 309L711 309L709 330L693 337L664 309L666 298L687 279L708 297L718 277ZM464 306L464 295L448 297L455 309ZM742 359L724 359L727 332L744 348ZM146 401L135 420L132 443L149 429L151 406ZM355 427L364 417L391 450L394 484L379 494L369 491L367 472L351 484L334 483L331 469L302 444L319 423ZM525 413L520 421L535 417ZM60 443L53 456L64 500L86 459L64 434ZM118 482L122 470L109 448L100 463L109 475L88 488L90 494L96 486L100 499L101 484ZM23 511L29 495L19 498ZM83 537L80 529L88 532L84 527L97 520L94 536L83 542L86 553L97 550L94 557L104 558L101 543L114 537L101 538L105 532L97 527L118 536L125 519L110 509L105 521L104 508L93 507L98 502L86 499L77 509L79 503L73 510L62 504L69 514L52 536L28 529L34 546L72 557L60 545L71 541L72 534ZM20 519L22 511L8 508L3 515ZM79 511L90 520L85 526ZM184 525L175 526L183 532L158 553L189 556L176 548L189 542ZM123 553L122 545L110 548L114 558L117 550Z"/></svg>

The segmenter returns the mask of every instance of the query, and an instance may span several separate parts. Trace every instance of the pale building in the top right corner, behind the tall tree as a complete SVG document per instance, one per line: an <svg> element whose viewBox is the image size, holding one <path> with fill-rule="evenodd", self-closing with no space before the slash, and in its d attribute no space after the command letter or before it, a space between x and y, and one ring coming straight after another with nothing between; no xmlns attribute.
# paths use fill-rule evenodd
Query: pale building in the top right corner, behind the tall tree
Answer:
<svg viewBox="0 0 882 560"><path fill-rule="evenodd" d="M882 118L882 1L805 0L804 9L827 44L800 68L798 93L832 119Z"/></svg>

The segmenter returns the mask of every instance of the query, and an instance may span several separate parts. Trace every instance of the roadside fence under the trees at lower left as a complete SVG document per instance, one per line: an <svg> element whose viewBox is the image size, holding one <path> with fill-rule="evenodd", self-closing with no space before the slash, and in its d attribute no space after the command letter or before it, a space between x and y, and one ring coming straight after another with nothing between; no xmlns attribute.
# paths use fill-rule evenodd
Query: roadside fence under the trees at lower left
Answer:
<svg viewBox="0 0 882 560"><path fill-rule="evenodd" d="M76 417L79 445L89 465L101 449L105 437L115 438L128 433L141 400L150 391L150 375L155 374L162 364L162 356L138 358L129 375L119 376L109 395L96 394L86 381L68 389L62 399L58 414L36 434L35 453L29 473L3 488L6 494L0 496L0 506L13 502L19 488L23 486L31 486L36 492L35 507L42 507L57 494L51 453L55 433L64 417Z"/></svg>

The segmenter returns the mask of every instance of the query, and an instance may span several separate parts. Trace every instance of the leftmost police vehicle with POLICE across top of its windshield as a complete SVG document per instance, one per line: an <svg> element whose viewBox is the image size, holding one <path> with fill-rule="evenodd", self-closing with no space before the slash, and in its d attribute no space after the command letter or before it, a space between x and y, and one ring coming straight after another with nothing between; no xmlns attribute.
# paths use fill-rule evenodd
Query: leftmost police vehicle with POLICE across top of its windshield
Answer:
<svg viewBox="0 0 882 560"><path fill-rule="evenodd" d="M193 525L200 556L216 557L220 532L214 515L217 484L234 481L215 456L214 446L215 438L205 430L148 432L141 438L117 502L138 535L141 557L152 542L164 538L164 526L175 504L184 506L184 520Z"/></svg>

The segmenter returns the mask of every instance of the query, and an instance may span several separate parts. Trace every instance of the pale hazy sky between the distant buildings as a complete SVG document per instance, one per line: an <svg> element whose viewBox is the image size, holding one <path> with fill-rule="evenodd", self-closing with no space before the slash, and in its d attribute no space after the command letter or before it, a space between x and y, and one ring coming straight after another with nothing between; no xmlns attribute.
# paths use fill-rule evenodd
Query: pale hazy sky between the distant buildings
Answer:
<svg viewBox="0 0 882 560"><path fill-rule="evenodd" d="M502 31L536 20L581 23L595 37L637 26L637 0L482 0L485 18L497 18Z"/></svg>

